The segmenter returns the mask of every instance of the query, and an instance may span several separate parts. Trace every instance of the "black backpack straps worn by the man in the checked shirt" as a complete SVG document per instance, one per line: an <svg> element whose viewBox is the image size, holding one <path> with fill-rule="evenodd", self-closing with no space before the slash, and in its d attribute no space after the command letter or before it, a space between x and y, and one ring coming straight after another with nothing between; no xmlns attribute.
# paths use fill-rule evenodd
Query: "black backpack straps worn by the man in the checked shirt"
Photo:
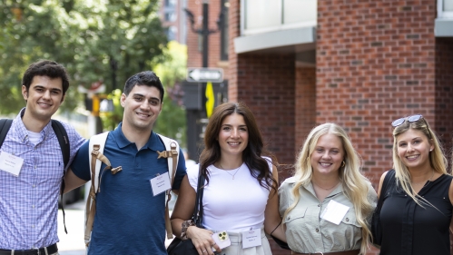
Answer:
<svg viewBox="0 0 453 255"><path fill-rule="evenodd" d="M66 166L69 162L69 156L70 156L69 154L71 152L68 135L67 135L67 132L64 129L64 126L62 123L55 121L55 120L51 120L51 122L52 122L52 128L54 129L54 132L56 134L56 138L58 139L58 142L60 143L60 148L62 149L64 170L65 170ZM0 120L0 148L3 145L3 142L5 142L6 134L9 132L9 129L11 128L11 124L13 124L13 120L10 120L10 119L1 119ZM62 185L60 187L61 201L63 201L63 191L64 191L64 176L63 176L63 180L62 180ZM66 222L64 219L63 202L62 202L62 211L63 211L64 232L66 232L66 234L67 234Z"/></svg>

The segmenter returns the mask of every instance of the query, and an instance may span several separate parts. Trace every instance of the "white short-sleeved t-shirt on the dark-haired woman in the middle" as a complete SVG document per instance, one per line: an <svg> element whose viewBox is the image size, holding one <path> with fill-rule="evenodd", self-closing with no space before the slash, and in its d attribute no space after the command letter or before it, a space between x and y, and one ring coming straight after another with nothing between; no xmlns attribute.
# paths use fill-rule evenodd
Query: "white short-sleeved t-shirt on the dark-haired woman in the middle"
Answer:
<svg viewBox="0 0 453 255"><path fill-rule="evenodd" d="M269 158L266 158L270 161ZM272 170L271 162L270 169ZM192 188L198 185L199 164L187 169ZM264 210L269 190L251 176L245 163L238 172L230 173L211 165L208 167L209 184L203 192L203 225L208 230L240 232L260 229L264 222Z"/></svg>

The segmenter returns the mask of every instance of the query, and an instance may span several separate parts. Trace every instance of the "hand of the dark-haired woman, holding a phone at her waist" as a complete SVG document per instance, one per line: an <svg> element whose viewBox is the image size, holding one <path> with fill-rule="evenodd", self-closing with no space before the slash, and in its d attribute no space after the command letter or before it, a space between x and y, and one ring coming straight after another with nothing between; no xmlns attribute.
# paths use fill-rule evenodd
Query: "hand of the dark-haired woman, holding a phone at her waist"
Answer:
<svg viewBox="0 0 453 255"><path fill-rule="evenodd" d="M212 240L212 230L203 230L195 226L187 229L187 238L192 240L193 246L198 251L199 255L213 255L212 248L221 252L219 246Z"/></svg>

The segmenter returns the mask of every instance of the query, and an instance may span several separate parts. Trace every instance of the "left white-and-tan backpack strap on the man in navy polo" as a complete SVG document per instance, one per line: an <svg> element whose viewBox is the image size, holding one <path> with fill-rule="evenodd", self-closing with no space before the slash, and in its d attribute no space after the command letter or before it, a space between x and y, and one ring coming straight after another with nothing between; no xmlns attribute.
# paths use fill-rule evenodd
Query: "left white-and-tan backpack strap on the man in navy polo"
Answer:
<svg viewBox="0 0 453 255"><path fill-rule="evenodd" d="M90 244L94 214L96 214L96 193L99 191L99 172L101 172L101 165L104 162L107 166L111 166L109 160L103 155L103 148L105 147L108 134L109 132L103 132L92 136L88 145L88 162L90 164L92 178L90 192L85 205L84 240L87 247Z"/></svg>

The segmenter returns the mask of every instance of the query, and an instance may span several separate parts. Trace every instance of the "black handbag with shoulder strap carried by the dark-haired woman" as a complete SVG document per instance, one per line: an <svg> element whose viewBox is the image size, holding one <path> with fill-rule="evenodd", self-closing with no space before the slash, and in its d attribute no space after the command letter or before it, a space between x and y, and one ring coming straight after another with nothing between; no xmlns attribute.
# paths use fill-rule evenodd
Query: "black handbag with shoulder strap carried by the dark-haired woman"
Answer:
<svg viewBox="0 0 453 255"><path fill-rule="evenodd" d="M200 169L198 174L198 186L197 186L197 197L195 199L195 209L193 210L192 221L195 223L195 226L198 228L203 228L202 226L202 215L203 215L203 185L204 185L204 176ZM199 207L200 205L200 207ZM200 208L200 210L199 210ZM182 240L179 237L176 237L172 240L170 245L167 247L168 255L198 255L198 251L193 246L192 240Z"/></svg>

